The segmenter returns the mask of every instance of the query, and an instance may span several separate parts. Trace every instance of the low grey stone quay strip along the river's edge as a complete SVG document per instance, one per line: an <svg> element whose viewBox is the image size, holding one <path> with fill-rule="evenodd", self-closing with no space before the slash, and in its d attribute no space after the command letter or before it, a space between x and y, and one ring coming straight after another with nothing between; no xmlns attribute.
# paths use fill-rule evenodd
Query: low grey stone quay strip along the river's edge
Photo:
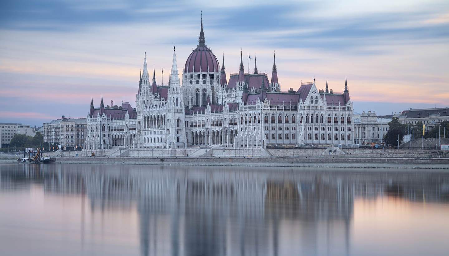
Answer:
<svg viewBox="0 0 449 256"><path fill-rule="evenodd" d="M2 159L0 162L17 162ZM67 164L260 166L449 170L449 158L57 158Z"/></svg>

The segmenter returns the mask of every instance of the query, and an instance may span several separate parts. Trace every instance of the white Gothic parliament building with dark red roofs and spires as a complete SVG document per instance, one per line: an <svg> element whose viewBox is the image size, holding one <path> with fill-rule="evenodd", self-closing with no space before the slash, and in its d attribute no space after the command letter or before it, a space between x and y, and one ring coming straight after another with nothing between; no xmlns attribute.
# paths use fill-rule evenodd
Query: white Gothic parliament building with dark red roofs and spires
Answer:
<svg viewBox="0 0 449 256"><path fill-rule="evenodd" d="M240 56L238 73L229 80L223 57L206 46L201 30L198 46L182 66L182 85L173 50L168 85L150 80L146 53L136 94L129 102L100 107L91 99L84 149L185 148L198 146L267 147L277 145L353 145L354 124L348 83L343 93L318 90L313 82L298 90L281 91L273 57L271 79L257 71L245 73ZM343 87L343 83L342 83Z"/></svg>

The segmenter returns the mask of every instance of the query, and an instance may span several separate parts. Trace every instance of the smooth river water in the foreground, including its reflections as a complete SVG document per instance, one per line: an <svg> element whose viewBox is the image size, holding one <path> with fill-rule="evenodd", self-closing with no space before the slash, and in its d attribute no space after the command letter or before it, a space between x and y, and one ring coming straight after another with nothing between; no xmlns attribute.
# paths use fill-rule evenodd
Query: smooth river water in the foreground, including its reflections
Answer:
<svg viewBox="0 0 449 256"><path fill-rule="evenodd" d="M0 164L0 255L447 255L449 173Z"/></svg>

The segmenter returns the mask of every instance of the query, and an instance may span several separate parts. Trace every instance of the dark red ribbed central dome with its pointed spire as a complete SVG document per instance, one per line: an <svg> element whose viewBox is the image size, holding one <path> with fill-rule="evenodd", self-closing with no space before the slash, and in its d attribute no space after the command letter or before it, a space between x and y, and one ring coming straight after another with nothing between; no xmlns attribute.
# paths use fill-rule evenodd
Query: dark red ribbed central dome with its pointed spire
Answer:
<svg viewBox="0 0 449 256"><path fill-rule="evenodd" d="M217 57L212 53L211 49L207 48L204 44L206 43L206 38L202 31L202 19L198 43L198 47L192 51L185 62L184 72L200 72L200 69L201 72L220 72Z"/></svg>

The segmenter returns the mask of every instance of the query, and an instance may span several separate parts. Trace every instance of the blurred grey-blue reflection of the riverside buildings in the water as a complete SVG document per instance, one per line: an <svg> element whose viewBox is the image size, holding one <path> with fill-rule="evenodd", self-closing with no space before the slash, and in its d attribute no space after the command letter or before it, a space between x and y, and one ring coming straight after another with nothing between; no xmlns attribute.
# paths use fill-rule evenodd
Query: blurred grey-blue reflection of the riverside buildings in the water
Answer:
<svg viewBox="0 0 449 256"><path fill-rule="evenodd" d="M330 248L348 253L356 197L449 199L449 175L438 173L77 168L2 170L0 189L41 183L47 193L84 193L92 211L136 205L142 255L309 255L331 254Z"/></svg>

